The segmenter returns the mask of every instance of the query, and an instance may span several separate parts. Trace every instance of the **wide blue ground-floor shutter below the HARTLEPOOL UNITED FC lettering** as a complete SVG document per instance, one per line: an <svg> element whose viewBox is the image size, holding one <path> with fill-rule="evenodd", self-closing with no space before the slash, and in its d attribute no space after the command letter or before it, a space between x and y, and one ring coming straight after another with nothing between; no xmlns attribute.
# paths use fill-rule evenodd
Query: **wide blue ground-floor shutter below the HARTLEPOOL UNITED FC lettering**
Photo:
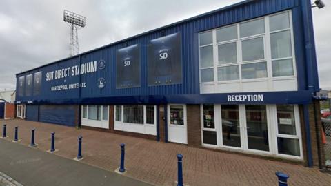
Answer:
<svg viewBox="0 0 331 186"><path fill-rule="evenodd" d="M74 127L77 118L74 105L39 105L39 121Z"/></svg>

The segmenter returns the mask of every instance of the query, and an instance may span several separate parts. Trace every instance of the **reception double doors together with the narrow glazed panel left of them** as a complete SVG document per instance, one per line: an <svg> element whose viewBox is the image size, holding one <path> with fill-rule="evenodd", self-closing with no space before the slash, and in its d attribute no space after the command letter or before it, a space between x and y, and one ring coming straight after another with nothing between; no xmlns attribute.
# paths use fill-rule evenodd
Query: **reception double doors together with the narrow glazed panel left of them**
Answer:
<svg viewBox="0 0 331 186"><path fill-rule="evenodd" d="M270 152L266 105L201 105L203 145Z"/></svg>

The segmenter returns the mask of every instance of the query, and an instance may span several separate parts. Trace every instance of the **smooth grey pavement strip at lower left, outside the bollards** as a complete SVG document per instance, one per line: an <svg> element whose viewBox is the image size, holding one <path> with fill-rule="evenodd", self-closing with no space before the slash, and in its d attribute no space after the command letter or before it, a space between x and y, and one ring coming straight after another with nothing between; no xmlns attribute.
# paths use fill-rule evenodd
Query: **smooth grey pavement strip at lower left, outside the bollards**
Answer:
<svg viewBox="0 0 331 186"><path fill-rule="evenodd" d="M0 170L24 186L149 185L4 139L0 149Z"/></svg>

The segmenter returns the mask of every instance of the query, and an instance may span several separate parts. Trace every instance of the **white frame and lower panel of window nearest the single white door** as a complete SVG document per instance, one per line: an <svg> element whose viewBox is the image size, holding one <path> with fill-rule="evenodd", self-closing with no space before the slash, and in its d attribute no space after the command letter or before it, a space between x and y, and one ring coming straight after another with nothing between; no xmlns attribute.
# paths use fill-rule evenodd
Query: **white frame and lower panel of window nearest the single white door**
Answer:
<svg viewBox="0 0 331 186"><path fill-rule="evenodd" d="M114 130L157 135L157 106L154 106L154 124L146 123L146 105L143 105L143 124L123 122L123 105L114 105ZM121 121L116 121L116 107L121 107Z"/></svg>

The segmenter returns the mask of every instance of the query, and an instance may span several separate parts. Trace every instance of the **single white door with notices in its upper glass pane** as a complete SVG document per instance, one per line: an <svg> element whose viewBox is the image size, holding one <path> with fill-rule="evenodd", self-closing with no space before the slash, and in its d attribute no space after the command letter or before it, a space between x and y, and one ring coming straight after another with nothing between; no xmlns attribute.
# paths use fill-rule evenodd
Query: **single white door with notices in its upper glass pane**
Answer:
<svg viewBox="0 0 331 186"><path fill-rule="evenodd" d="M186 105L168 105L168 141L188 143Z"/></svg>

